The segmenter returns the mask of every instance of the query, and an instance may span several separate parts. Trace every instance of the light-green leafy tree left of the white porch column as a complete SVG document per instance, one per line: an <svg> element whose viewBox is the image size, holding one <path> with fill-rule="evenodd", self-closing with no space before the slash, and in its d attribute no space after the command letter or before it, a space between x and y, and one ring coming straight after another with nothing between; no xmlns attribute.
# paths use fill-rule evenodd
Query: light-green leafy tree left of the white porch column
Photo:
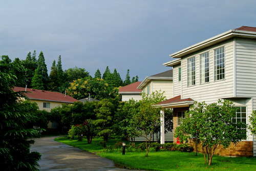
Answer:
<svg viewBox="0 0 256 171"><path fill-rule="evenodd" d="M163 92L153 92L150 95L142 94L140 100L139 112L135 113L132 118L134 126L133 130L140 131L140 136L144 136L146 140L146 157L150 151L151 141L155 133L156 127L160 122L160 108L154 108L153 104L161 102L165 99Z"/></svg>

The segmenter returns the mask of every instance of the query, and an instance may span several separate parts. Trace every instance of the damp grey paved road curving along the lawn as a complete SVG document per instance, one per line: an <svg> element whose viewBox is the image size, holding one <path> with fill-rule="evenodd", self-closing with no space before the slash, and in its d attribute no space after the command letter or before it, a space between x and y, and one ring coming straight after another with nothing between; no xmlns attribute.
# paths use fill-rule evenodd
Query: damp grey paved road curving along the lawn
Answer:
<svg viewBox="0 0 256 171"><path fill-rule="evenodd" d="M30 151L37 151L41 156L38 161L40 170L131 170L115 166L114 162L93 153L54 141L56 137L35 139Z"/></svg>

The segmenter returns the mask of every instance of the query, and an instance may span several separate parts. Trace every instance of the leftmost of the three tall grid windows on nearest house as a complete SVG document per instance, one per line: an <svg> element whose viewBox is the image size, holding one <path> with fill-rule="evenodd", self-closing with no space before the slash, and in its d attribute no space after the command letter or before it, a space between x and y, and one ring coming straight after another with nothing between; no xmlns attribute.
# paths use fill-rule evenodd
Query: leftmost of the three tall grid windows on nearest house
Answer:
<svg viewBox="0 0 256 171"><path fill-rule="evenodd" d="M195 57L187 59L187 86L196 84L196 60Z"/></svg>

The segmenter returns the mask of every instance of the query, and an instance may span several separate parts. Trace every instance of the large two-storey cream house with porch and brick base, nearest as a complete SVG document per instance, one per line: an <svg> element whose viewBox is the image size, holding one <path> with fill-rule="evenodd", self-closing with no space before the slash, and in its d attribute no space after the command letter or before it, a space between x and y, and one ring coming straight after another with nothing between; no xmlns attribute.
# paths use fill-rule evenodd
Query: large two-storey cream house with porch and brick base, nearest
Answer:
<svg viewBox="0 0 256 171"><path fill-rule="evenodd" d="M256 110L255 27L228 30L170 57L177 58L164 63L164 66L173 67L174 98L157 106L174 109L174 130L194 101L212 103L229 99L240 109L236 119L249 123L248 116ZM161 112L164 114L164 110ZM227 149L218 147L216 152L224 156L252 156L253 140L255 137L247 130L247 138L238 145L231 144Z"/></svg>

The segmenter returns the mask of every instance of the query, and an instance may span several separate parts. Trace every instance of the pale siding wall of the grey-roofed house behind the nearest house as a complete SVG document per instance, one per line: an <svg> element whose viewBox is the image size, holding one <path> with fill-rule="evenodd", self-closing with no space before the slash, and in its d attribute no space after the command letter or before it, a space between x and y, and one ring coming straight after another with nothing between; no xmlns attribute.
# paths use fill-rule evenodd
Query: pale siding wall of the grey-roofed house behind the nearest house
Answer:
<svg viewBox="0 0 256 171"><path fill-rule="evenodd" d="M164 92L167 99L173 98L173 80L152 80L152 90Z"/></svg>

